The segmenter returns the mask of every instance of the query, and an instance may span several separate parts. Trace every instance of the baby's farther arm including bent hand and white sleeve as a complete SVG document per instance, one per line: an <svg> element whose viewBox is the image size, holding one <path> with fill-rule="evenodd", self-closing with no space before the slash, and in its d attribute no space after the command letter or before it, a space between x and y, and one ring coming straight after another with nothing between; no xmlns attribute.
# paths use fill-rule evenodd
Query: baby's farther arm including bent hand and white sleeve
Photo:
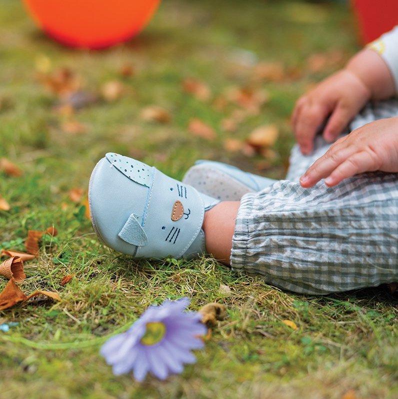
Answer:
<svg viewBox="0 0 398 399"><path fill-rule="evenodd" d="M298 99L292 123L301 151L312 151L313 137L326 117L323 137L333 141L367 101L391 97L397 88L398 27Z"/></svg>

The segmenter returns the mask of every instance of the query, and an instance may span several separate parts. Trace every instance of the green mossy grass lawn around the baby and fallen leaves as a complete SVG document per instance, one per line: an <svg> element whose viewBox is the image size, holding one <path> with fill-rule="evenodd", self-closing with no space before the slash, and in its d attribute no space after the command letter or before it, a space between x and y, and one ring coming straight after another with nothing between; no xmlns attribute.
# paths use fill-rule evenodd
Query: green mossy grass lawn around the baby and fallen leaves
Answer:
<svg viewBox="0 0 398 399"><path fill-rule="evenodd" d="M0 156L24 171L21 177L0 174L0 193L12 206L0 211L0 247L23 249L28 229L56 226L58 236L26 263L21 288L56 290L62 298L0 312L2 321L19 322L0 332L0 397L396 397L396 302L383 289L304 296L238 276L211 259L136 262L101 245L83 209L67 195L70 188L87 186L106 151L138 154L176 178L196 158L255 171L259 157L228 153L222 143L244 138L262 123L280 128L279 156L264 173L282 178L293 142L286 120L294 101L331 71L308 72L307 57L328 50L349 55L356 48L351 16L341 3L167 0L139 37L104 51L82 51L43 36L18 1L0 0ZM206 81L213 97L246 84L246 68L232 61L241 49L258 61L281 61L303 72L261 84L269 102L235 133L225 133L219 122L231 108L217 111L192 98L181 90L181 80ZM76 113L88 131L72 135L61 131L54 97L36 78L35 63L43 56L52 69L70 67L91 91L120 79L117 71L126 62L136 74L124 79L127 91L118 101ZM149 104L167 108L172 121L143 122L139 112ZM216 129L214 142L187 132L193 116ZM75 277L61 286L70 273ZM1 289L5 283L0 281ZM219 293L220 284L231 288L229 296ZM228 317L196 353L197 363L165 382L147 378L138 384L129 375L113 376L98 354L103 338L150 303L183 295L192 298L192 309L214 300L227 307Z"/></svg>

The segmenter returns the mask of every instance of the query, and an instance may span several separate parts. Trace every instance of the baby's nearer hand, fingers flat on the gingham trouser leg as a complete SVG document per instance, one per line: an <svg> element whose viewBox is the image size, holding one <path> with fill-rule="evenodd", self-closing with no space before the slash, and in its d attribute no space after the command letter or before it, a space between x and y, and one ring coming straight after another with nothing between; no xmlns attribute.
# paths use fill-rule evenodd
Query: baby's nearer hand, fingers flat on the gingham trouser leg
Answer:
<svg viewBox="0 0 398 399"><path fill-rule="evenodd" d="M303 187L321 178L328 186L367 171L398 172L398 117L380 119L338 139L301 176Z"/></svg>

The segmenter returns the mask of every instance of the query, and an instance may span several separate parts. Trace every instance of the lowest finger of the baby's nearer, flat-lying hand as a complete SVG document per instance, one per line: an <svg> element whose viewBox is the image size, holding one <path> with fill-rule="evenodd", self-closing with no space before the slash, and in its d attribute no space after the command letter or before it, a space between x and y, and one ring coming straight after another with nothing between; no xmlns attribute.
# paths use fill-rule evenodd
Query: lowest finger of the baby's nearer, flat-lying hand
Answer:
<svg viewBox="0 0 398 399"><path fill-rule="evenodd" d="M355 152L325 178L325 183L331 187L344 180L344 178L372 170L377 170L374 158L366 151Z"/></svg>

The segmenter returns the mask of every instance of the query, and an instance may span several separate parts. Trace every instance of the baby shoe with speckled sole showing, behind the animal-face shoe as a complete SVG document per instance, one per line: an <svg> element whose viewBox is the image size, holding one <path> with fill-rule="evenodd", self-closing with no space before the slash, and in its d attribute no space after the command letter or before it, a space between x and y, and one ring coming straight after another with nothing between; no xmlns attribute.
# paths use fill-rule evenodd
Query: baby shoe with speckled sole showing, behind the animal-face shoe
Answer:
<svg viewBox="0 0 398 399"><path fill-rule="evenodd" d="M275 181L212 160L197 160L182 179L183 183L221 201L238 201L245 193L261 191Z"/></svg>

